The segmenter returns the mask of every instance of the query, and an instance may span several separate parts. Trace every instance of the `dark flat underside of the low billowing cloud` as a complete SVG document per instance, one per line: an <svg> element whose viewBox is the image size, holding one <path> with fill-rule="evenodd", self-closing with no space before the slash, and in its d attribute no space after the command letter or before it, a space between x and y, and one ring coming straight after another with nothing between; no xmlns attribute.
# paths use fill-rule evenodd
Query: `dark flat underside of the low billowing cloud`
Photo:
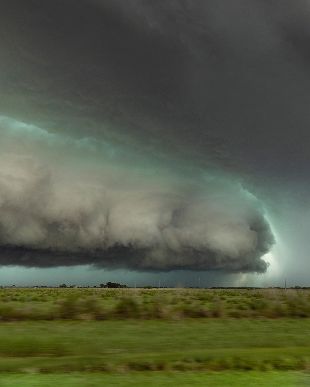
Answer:
<svg viewBox="0 0 310 387"><path fill-rule="evenodd" d="M269 233L269 229L265 230ZM220 257L218 253L213 251L205 251L207 259L202 257L200 251L191 252L187 256L180 257L176 253L172 254L162 264L156 263L147 264L146 256L150 253L148 250L137 250L134 247L114 247L96 253L70 253L57 252L53 250L31 250L29 248L16 248L7 246L0 249L1 265L3 266L23 266L23 267L41 267L49 268L55 266L76 266L76 265L94 265L98 269L129 269L142 272L165 272L171 270L220 270L222 272L256 272L264 273L269 263L262 260L260 257L269 249L264 248L263 251L257 250L247 260L244 257L235 262L228 262ZM166 257L164 257L166 258ZM219 263L219 260L221 261Z"/></svg>

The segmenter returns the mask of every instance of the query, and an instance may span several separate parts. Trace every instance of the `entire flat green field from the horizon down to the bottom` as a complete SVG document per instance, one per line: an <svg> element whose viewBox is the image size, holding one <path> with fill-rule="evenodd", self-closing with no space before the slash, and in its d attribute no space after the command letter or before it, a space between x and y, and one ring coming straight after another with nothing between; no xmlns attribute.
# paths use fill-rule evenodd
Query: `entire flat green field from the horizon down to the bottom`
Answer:
<svg viewBox="0 0 310 387"><path fill-rule="evenodd" d="M309 307L308 290L3 288L0 386L302 385Z"/></svg>

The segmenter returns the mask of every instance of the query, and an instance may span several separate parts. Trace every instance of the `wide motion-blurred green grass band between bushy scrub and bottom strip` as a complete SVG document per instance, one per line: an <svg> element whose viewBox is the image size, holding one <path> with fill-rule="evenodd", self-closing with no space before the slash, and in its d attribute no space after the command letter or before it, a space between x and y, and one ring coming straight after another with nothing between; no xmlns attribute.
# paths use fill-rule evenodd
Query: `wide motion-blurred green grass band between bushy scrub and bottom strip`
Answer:
<svg viewBox="0 0 310 387"><path fill-rule="evenodd" d="M308 319L0 324L0 372L307 370Z"/></svg>

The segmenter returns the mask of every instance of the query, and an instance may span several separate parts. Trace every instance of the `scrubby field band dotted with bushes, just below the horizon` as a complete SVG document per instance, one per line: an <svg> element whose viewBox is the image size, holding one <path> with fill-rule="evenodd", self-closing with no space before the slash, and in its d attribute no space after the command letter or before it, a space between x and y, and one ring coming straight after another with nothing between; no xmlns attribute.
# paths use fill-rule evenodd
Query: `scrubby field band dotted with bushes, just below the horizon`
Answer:
<svg viewBox="0 0 310 387"><path fill-rule="evenodd" d="M309 290L0 289L2 321L310 317Z"/></svg>

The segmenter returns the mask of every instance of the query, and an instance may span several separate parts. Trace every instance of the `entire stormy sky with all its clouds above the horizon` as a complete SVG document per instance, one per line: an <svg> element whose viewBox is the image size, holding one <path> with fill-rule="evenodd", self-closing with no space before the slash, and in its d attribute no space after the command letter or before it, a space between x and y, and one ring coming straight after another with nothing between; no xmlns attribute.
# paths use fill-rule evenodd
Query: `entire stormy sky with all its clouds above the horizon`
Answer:
<svg viewBox="0 0 310 387"><path fill-rule="evenodd" d="M7 278L307 284L308 1L0 7Z"/></svg>

